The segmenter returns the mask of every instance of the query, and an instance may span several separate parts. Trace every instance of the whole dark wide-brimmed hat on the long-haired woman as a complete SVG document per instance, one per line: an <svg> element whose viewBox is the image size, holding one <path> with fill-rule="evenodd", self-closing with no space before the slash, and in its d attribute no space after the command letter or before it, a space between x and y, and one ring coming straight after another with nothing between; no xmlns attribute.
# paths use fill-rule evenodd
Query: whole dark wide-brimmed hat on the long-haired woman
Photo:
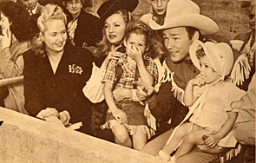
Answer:
<svg viewBox="0 0 256 163"><path fill-rule="evenodd" d="M138 3L138 0L109 0L102 3L99 10L97 10L97 14L100 16L100 18L95 21L95 27L102 28L104 21L108 18L108 16L111 16L118 10L128 10L133 12Z"/></svg>

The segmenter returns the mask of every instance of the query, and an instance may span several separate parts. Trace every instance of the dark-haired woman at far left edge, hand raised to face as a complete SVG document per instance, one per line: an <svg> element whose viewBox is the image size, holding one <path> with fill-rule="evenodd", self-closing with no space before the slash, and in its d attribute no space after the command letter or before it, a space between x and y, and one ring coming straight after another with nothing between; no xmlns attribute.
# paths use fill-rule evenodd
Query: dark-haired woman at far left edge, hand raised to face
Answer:
<svg viewBox="0 0 256 163"><path fill-rule="evenodd" d="M31 48L30 41L36 36L36 25L23 5L3 1L0 5L3 36L0 41L0 71L3 79L23 75L23 53ZM8 86L9 95L4 99L5 108L28 114L24 108L23 84Z"/></svg>

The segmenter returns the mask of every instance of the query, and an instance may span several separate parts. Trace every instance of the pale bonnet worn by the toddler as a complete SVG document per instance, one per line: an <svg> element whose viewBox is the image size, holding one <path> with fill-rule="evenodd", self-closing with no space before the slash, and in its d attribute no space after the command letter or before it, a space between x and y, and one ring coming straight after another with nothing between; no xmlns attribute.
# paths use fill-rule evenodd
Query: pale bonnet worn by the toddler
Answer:
<svg viewBox="0 0 256 163"><path fill-rule="evenodd" d="M210 60L213 69L224 79L233 68L233 50L225 43L195 41L189 48L189 54L194 66L200 69L200 61L196 56L196 50L201 46L207 58Z"/></svg>

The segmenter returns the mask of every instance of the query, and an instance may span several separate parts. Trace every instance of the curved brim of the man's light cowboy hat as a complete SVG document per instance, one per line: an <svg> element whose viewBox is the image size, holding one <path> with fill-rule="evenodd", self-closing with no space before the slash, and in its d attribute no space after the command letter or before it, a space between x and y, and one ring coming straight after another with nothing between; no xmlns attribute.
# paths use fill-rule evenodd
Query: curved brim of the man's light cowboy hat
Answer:
<svg viewBox="0 0 256 163"><path fill-rule="evenodd" d="M150 20L149 26L154 30L172 29L177 27L194 27L195 29L199 29L202 35L213 35L219 31L218 25L213 22L212 19L199 14L175 16L174 18L165 21L162 26L155 23L153 20Z"/></svg>

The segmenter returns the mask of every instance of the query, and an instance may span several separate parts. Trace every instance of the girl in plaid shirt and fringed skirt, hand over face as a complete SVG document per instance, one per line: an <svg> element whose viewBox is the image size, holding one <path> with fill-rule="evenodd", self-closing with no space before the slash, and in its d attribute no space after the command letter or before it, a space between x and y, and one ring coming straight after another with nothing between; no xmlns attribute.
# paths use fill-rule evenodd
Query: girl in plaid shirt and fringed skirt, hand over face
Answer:
<svg viewBox="0 0 256 163"><path fill-rule="evenodd" d="M103 79L104 96L108 104L106 123L103 128L110 128L115 135L115 143L125 147L140 150L150 137L147 119L144 116L144 106L140 101L126 99L115 101L113 91L116 88L133 89L134 81L140 80L154 85L157 82L157 68L148 54L156 54L152 50L156 46L150 35L148 25L134 23L128 27L128 34L124 41L125 55L116 62L109 62ZM161 44L159 43L161 46ZM132 135L133 144L129 133Z"/></svg>

